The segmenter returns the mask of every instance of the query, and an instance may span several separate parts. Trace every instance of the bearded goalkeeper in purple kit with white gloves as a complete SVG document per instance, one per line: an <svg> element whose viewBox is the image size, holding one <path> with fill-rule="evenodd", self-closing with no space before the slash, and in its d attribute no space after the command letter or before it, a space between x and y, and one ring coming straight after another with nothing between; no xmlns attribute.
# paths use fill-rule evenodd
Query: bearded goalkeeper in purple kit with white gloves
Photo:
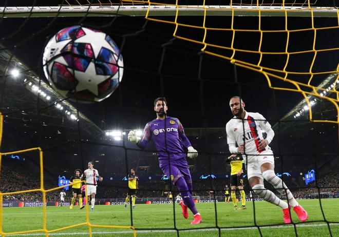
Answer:
<svg viewBox="0 0 339 237"><path fill-rule="evenodd" d="M158 97L154 101L154 111L157 118L146 124L141 140L136 136L135 131L128 133L128 141L136 143L141 149L145 149L150 139L153 138L159 156L159 166L167 175L171 177L173 185L176 185L180 191L183 201L180 202L182 215L185 219L189 218L187 207L192 211L194 220L192 225L201 222L201 215L197 211L192 198L192 179L189 165L186 160L186 152L183 147L188 149L187 157L194 158L198 156L189 139L184 133L183 126L178 118L167 116L167 102L165 97Z"/></svg>

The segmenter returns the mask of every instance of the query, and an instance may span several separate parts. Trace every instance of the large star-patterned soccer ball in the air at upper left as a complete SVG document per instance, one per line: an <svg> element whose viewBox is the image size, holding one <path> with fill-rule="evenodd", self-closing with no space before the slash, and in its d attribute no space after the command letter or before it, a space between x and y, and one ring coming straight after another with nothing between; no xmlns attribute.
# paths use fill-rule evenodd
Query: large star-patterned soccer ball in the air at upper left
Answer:
<svg viewBox="0 0 339 237"><path fill-rule="evenodd" d="M120 50L109 35L71 26L53 35L43 55L45 76L63 97L99 102L119 86L123 74Z"/></svg>

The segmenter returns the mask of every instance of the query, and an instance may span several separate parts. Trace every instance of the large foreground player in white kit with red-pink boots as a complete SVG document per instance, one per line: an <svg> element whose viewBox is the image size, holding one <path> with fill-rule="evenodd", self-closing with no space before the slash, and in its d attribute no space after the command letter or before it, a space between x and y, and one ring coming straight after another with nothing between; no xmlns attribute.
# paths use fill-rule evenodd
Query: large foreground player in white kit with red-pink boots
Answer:
<svg viewBox="0 0 339 237"><path fill-rule="evenodd" d="M271 125L260 113L247 112L244 107L245 103L239 96L231 98L230 108L234 117L226 124L230 152L244 154L250 186L260 198L283 209L286 224L291 223L289 205L293 207L300 221L305 222L308 218L307 212L297 203L285 183L275 175L274 155L268 146L274 137ZM263 131L267 133L265 140ZM263 179L272 184L280 194L287 196L289 205L266 189Z"/></svg>

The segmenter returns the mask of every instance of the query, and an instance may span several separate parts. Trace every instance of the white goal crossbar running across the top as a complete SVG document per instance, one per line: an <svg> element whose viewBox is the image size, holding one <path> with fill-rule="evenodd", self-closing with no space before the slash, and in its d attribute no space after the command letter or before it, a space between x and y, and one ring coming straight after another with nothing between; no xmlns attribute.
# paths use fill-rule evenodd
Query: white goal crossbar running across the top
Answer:
<svg viewBox="0 0 339 237"><path fill-rule="evenodd" d="M333 7L253 7L253 6L194 6L194 5L111 5L111 6L46 6L46 7L0 7L2 17L55 17L55 16L304 16L338 17L338 9ZM206 12L206 13L205 13ZM259 13L260 12L260 13Z"/></svg>

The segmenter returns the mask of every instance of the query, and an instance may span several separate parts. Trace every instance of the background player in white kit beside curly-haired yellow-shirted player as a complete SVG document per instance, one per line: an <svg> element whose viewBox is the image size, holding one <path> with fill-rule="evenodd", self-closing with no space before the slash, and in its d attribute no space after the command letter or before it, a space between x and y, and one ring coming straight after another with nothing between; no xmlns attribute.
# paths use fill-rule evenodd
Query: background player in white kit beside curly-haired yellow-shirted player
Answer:
<svg viewBox="0 0 339 237"><path fill-rule="evenodd" d="M87 188L87 195L89 199L89 195L92 196L91 200L91 208L90 210L94 210L94 204L96 203L96 193L97 193L97 179L99 178L99 181L102 181L102 177L99 176L98 170L93 168L93 162L88 162L88 169L86 169L82 175L82 177L86 180L86 188Z"/></svg>

